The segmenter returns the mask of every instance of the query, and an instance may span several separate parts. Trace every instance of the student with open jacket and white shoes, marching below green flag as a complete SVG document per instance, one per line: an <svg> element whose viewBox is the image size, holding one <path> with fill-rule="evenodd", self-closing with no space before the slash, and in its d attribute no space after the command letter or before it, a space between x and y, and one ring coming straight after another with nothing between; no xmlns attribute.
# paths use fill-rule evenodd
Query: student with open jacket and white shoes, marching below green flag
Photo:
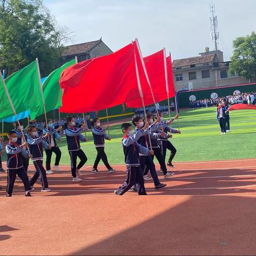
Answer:
<svg viewBox="0 0 256 256"><path fill-rule="evenodd" d="M61 130L61 126L59 126L56 130L54 129L54 125L52 122L52 119L49 119L48 122L48 127L46 127L46 123L44 124L44 130L43 134L45 135L47 132L50 133L50 136L47 138L46 142L50 143L51 149L45 149L45 154L46 154L46 173L47 174L52 174L53 171L51 171L51 158L52 158L52 153L56 155L55 157L55 164L54 164L54 170L55 171L60 171L59 163L60 163L60 158L61 158L61 151L56 143L56 140L61 140L59 131Z"/></svg>

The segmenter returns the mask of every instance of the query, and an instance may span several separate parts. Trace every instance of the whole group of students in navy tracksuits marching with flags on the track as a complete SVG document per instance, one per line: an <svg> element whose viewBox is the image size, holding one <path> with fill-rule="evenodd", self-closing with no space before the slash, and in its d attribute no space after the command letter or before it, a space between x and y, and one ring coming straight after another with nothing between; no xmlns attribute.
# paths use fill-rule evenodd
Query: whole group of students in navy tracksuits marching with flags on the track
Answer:
<svg viewBox="0 0 256 256"><path fill-rule="evenodd" d="M139 195L147 195L144 180L153 180L156 189L166 186L159 181L153 162L156 156L163 178L171 178L174 173L167 170L167 166L174 167L172 159L175 156L176 149L168 140L172 133L181 133L179 130L171 128L169 125L179 116L163 121L163 113L159 115L151 112L147 113L144 120L141 116L134 116L132 124L135 126L135 133L132 132L132 124L123 123L122 132L124 134L122 145L126 164L127 177L123 185L114 191L115 195L123 195L126 191L133 188ZM105 164L108 173L115 172L115 169L108 163L105 153L105 139L111 140L107 134L109 125L102 126L99 118L94 118L92 122L92 135L97 157L92 167L92 172L99 173L98 164L100 160ZM6 196L12 196L13 186L18 175L25 187L25 195L31 196L30 192L34 190L33 186L38 178L41 180L42 192L51 191L47 180L47 175L53 173L51 170L52 154L55 154L54 171L60 171L59 163L61 159L61 150L58 147L58 141L61 140L60 132L62 126L65 126L67 150L70 155L71 175L73 182L81 182L81 168L87 162L87 156L81 149L80 141L88 139L83 135L86 129L86 122L81 116L68 116L66 120L47 120L47 123L33 122L23 127L22 122L15 122L14 129L7 132L9 142L5 150L7 154L7 186ZM149 148L148 145L152 145ZM43 165L43 148L46 154L46 170ZM165 163L166 150L171 151L167 164ZM0 143L0 153L3 154L3 148ZM1 156L0 154L0 156ZM77 158L79 163L77 164ZM29 159L35 166L35 173L31 179L28 178L27 171ZM0 172L5 172L0 157ZM149 177L150 172L151 177Z"/></svg>

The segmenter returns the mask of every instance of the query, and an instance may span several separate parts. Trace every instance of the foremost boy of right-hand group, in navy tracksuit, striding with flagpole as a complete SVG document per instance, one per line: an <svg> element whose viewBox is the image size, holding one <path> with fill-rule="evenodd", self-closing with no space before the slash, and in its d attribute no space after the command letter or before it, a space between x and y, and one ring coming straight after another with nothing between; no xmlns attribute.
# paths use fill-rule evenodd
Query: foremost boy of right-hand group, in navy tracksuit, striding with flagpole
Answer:
<svg viewBox="0 0 256 256"><path fill-rule="evenodd" d="M134 185L136 186L139 195L147 195L140 166L139 153L150 156L154 154L154 151L141 146L137 142L143 136L143 133L146 131L147 127L148 125L146 124L143 128L139 129L136 134L133 134L131 124L122 124L122 131L124 133L122 145L126 165L126 180L122 186L114 191L115 195L123 195Z"/></svg>

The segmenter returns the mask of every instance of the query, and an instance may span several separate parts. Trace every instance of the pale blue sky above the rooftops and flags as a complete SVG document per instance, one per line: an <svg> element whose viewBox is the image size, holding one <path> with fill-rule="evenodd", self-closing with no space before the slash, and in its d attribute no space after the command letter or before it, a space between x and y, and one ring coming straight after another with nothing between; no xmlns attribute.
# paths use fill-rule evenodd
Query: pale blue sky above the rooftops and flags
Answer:
<svg viewBox="0 0 256 256"><path fill-rule="evenodd" d="M137 37L143 55L163 47L172 59L193 57L209 46L209 0L44 0L60 25L74 31L74 43L103 41L116 51ZM256 28L255 0L214 0L219 49L229 60L232 41Z"/></svg>

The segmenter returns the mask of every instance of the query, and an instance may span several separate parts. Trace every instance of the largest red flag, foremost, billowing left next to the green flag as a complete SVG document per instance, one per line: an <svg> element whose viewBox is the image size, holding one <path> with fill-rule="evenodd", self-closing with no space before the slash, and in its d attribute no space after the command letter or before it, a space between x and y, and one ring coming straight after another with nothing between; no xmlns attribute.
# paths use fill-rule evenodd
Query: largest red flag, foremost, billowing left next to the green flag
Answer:
<svg viewBox="0 0 256 256"><path fill-rule="evenodd" d="M65 113L97 111L138 99L133 45L66 68L60 86L60 111Z"/></svg>

